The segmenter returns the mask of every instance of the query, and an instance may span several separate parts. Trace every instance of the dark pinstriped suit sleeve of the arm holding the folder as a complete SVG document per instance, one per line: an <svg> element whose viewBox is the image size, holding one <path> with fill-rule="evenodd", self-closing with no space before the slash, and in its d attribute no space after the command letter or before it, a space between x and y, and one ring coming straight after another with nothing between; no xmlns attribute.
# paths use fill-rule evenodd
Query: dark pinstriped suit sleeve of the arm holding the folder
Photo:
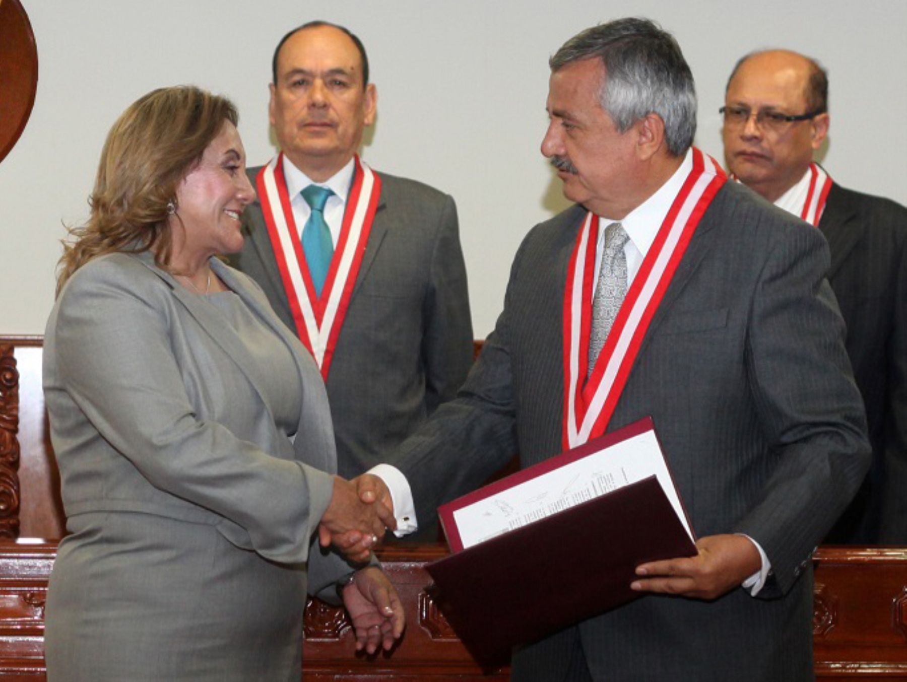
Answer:
<svg viewBox="0 0 907 682"><path fill-rule="evenodd" d="M779 229L756 284L745 362L759 421L776 460L761 500L734 530L771 561L773 587L791 588L869 465L863 401L844 350L844 321L814 230Z"/></svg>

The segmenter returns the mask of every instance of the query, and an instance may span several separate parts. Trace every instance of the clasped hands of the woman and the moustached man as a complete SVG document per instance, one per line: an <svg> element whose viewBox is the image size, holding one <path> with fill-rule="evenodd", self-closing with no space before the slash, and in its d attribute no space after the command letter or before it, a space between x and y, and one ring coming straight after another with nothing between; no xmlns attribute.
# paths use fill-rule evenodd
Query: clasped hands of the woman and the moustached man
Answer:
<svg viewBox="0 0 907 682"><path fill-rule="evenodd" d="M318 524L322 547L333 544L346 559L366 561L385 526L396 528L396 521L384 505L362 502L353 483L334 477L331 502Z"/></svg>

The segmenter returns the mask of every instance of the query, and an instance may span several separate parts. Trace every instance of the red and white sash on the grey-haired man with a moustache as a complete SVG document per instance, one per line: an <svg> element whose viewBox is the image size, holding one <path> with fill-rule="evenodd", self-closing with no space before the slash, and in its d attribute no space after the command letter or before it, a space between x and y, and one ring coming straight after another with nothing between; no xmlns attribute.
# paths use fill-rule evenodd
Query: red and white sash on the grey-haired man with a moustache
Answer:
<svg viewBox="0 0 907 682"><path fill-rule="evenodd" d="M605 433L658 304L668 290L699 219L726 181L727 176L717 161L693 148L693 170L629 286L588 382L599 218L589 213L583 221L564 287L565 450Z"/></svg>

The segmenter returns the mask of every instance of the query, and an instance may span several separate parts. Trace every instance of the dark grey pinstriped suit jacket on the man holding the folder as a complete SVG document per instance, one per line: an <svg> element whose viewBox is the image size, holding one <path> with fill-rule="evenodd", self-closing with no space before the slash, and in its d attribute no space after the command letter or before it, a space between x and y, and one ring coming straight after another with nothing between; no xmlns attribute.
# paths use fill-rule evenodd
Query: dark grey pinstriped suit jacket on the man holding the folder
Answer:
<svg viewBox="0 0 907 682"><path fill-rule="evenodd" d="M532 229L460 395L401 449L420 518L516 450L523 466L561 451L563 291L583 215ZM816 230L746 188L728 182L707 209L610 430L651 415L697 535L746 533L774 575L758 599L648 596L583 622L596 679L812 677L810 556L869 462L828 265ZM558 679L565 657L560 636L519 649L514 679Z"/></svg>

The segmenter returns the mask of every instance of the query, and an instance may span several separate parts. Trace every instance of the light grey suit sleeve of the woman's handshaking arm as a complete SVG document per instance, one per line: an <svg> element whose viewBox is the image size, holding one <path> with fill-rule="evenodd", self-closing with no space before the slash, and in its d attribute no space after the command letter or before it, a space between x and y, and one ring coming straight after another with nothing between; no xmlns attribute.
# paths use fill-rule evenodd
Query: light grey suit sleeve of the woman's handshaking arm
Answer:
<svg viewBox="0 0 907 682"><path fill-rule="evenodd" d="M137 291L140 284L105 264L79 275L60 301L54 357L85 418L154 487L235 522L270 560L306 561L330 502L330 475L199 418L167 308L154 302L161 287Z"/></svg>

